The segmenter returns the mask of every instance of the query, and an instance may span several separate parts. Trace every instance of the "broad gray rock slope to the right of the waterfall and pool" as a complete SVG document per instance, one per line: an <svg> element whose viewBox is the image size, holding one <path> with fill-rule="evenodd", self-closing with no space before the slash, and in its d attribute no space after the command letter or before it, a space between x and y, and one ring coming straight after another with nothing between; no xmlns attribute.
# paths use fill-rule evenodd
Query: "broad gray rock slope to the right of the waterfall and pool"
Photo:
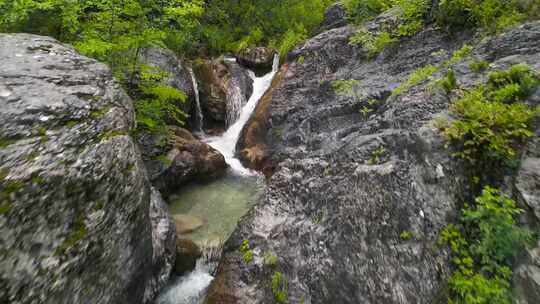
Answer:
<svg viewBox="0 0 540 304"><path fill-rule="evenodd" d="M445 70L391 92L416 69L447 60L467 37L427 28L369 60L348 43L353 33L332 29L298 47L292 56L304 60L282 67L244 129L238 150L271 178L226 244L208 303L272 303L267 252L288 278L290 303L444 300L449 256L435 243L470 199L464 169L433 123L452 103L430 84ZM441 50L448 55L432 55ZM462 88L486 81L488 72L469 69L473 58L491 69L540 68L540 23L492 38L452 64ZM352 94L336 94L335 81L351 79L358 81ZM253 251L249 264L243 240Z"/></svg>

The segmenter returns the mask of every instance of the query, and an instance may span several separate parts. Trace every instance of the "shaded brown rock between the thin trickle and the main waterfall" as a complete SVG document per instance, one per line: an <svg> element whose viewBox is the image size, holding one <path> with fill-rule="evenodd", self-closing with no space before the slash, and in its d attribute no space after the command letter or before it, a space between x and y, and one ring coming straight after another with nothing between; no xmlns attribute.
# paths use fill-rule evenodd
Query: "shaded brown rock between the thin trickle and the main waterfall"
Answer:
<svg viewBox="0 0 540 304"><path fill-rule="evenodd" d="M251 96L253 79L236 62L223 59L203 60L195 72L205 127L226 129L238 119Z"/></svg>

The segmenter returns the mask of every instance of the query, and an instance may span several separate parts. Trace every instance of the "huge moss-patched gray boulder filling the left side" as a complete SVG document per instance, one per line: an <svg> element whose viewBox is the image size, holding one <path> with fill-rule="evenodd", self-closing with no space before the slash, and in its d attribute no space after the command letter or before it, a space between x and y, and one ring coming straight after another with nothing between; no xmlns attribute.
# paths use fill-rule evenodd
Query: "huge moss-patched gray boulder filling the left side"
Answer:
<svg viewBox="0 0 540 304"><path fill-rule="evenodd" d="M54 39L0 34L0 46L0 302L153 298L166 269L153 265L130 98Z"/></svg>

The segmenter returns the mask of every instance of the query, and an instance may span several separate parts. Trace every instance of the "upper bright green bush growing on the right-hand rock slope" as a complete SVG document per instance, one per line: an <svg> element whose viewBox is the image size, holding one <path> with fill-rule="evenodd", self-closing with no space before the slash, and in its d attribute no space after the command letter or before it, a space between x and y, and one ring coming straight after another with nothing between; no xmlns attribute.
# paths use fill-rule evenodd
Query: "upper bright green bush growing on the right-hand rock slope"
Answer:
<svg viewBox="0 0 540 304"><path fill-rule="evenodd" d="M479 86L453 106L458 119L444 131L459 146L456 156L471 163L516 159L531 131L539 108L521 102L538 87L538 79L525 65L490 74L487 86Z"/></svg>

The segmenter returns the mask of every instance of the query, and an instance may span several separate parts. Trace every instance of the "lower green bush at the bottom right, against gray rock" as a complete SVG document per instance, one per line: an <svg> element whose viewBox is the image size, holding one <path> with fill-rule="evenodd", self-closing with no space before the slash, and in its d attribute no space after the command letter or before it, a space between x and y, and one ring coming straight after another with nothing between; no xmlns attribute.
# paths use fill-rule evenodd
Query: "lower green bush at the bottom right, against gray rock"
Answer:
<svg viewBox="0 0 540 304"><path fill-rule="evenodd" d="M485 187L475 204L465 205L459 223L441 232L441 244L449 245L454 265L449 303L512 303L511 266L534 240L530 231L517 226L522 212L499 190Z"/></svg>

